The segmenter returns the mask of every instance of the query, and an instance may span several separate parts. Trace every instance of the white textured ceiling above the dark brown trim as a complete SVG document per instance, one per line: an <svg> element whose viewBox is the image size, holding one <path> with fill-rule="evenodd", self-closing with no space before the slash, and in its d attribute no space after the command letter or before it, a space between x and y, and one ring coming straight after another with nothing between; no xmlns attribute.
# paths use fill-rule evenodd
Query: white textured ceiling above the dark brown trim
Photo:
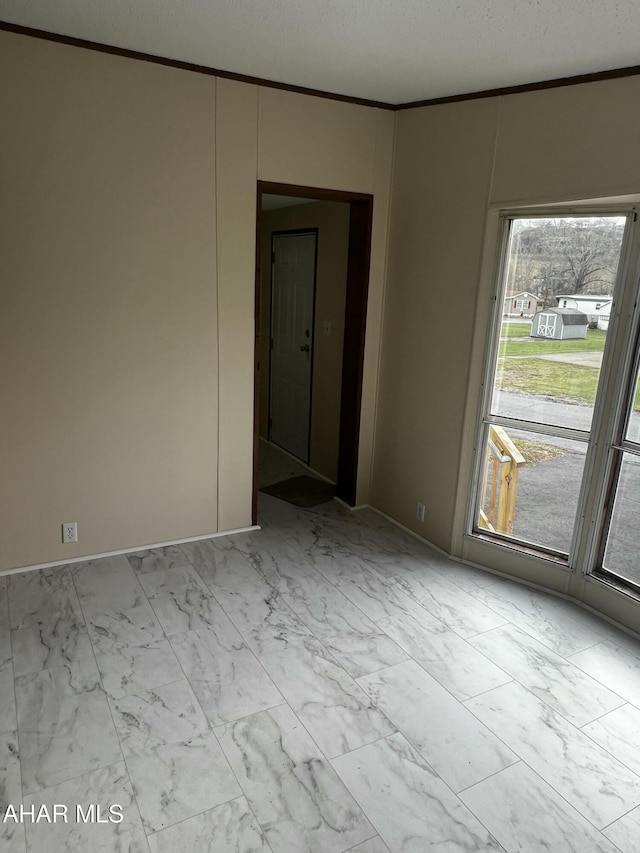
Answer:
<svg viewBox="0 0 640 853"><path fill-rule="evenodd" d="M394 104L640 64L639 0L0 0L0 20Z"/></svg>

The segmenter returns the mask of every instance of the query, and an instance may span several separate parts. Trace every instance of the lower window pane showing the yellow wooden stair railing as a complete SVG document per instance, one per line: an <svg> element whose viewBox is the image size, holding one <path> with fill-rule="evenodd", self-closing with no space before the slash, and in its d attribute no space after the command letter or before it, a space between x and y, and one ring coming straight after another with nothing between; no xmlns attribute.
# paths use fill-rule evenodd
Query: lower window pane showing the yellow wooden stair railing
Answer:
<svg viewBox="0 0 640 853"><path fill-rule="evenodd" d="M488 429L476 527L568 553L587 445Z"/></svg>

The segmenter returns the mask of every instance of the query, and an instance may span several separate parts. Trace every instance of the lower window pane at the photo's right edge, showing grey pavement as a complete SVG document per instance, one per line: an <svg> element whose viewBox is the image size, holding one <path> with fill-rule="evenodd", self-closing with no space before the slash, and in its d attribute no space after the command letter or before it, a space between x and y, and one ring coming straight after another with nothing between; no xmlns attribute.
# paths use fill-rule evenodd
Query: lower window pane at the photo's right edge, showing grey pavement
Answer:
<svg viewBox="0 0 640 853"><path fill-rule="evenodd" d="M620 469L613 515L604 555L604 568L640 583L640 459L625 453Z"/></svg>

